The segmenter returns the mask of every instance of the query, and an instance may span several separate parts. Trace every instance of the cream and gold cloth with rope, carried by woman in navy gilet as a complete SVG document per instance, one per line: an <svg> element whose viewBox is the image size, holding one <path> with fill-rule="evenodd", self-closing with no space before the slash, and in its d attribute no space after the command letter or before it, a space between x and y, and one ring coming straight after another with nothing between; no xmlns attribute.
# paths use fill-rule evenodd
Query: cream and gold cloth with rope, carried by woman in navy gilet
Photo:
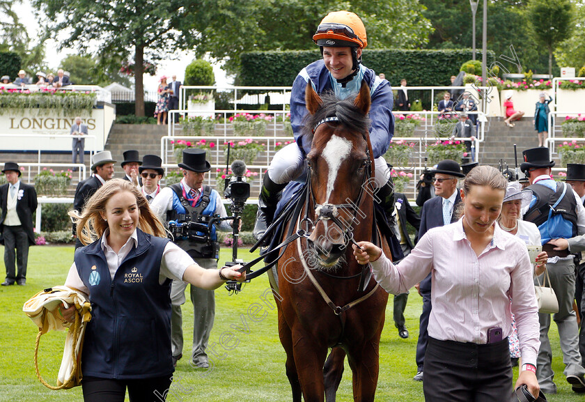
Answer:
<svg viewBox="0 0 585 402"><path fill-rule="evenodd" d="M59 313L59 305L75 305L75 322L68 323ZM91 320L91 304L85 293L67 286L54 286L40 291L24 303L22 311L38 327L35 343L35 372L38 380L49 389L70 389L81 384L81 349L86 324ZM38 345L40 337L49 331L68 330L63 348L63 359L57 376L57 385L49 385L38 370Z"/></svg>

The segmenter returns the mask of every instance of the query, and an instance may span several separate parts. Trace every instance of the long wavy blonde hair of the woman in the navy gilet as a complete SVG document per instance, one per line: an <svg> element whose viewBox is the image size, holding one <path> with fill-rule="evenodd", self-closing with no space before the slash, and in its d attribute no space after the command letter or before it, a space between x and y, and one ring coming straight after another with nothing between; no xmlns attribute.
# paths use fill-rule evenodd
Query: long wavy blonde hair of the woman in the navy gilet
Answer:
<svg viewBox="0 0 585 402"><path fill-rule="evenodd" d="M108 223L102 218L101 212L106 211L106 203L114 194L119 192L130 192L136 197L136 203L139 210L138 228L144 233L155 235L159 238L166 237L164 224L150 209L148 201L142 195L138 188L127 180L114 178L107 181L98 189L93 196L86 202L81 213L76 210L70 210L68 215L77 224L77 238L82 244L88 245L98 240L104 234Z"/></svg>

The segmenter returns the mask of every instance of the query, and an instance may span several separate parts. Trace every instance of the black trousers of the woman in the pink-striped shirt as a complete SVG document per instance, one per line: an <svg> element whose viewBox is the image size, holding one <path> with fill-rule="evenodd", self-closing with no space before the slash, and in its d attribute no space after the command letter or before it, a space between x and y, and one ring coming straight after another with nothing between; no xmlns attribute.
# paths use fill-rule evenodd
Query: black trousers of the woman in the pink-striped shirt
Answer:
<svg viewBox="0 0 585 402"><path fill-rule="evenodd" d="M513 391L508 338L478 345L428 338L426 402L509 401Z"/></svg>

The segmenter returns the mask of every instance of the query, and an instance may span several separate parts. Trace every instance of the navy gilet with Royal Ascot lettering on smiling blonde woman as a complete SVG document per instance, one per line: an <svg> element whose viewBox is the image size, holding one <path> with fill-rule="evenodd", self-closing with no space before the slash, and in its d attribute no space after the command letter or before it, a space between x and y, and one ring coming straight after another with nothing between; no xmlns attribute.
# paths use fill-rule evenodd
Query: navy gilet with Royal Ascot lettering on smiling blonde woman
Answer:
<svg viewBox="0 0 585 402"><path fill-rule="evenodd" d="M138 247L124 258L114 281L101 238L75 251L92 312L81 355L84 376L153 378L173 373L171 279L159 284L162 253L169 239L137 229Z"/></svg>

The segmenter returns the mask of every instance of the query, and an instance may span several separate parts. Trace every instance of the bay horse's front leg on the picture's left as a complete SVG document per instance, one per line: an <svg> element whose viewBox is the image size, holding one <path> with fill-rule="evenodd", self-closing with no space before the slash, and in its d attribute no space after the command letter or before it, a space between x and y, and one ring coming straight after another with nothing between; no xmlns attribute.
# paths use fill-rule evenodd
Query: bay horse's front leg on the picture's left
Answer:
<svg viewBox="0 0 585 402"><path fill-rule="evenodd" d="M325 399L323 364L327 350L327 345L322 345L320 340L304 331L300 325L298 329L292 329L292 352L304 402L323 402Z"/></svg>

